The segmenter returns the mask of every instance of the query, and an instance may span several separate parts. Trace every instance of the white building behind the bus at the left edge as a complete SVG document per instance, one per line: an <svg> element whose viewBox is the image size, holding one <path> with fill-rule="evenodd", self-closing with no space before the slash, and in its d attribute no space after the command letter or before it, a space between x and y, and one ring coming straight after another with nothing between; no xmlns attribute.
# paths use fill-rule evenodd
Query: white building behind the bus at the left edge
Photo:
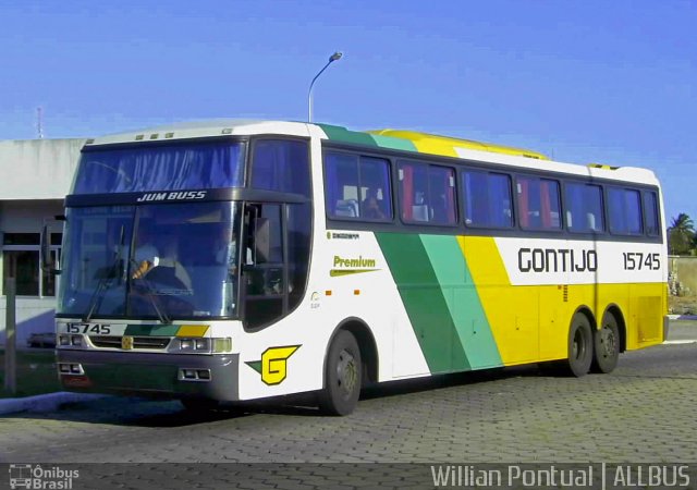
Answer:
<svg viewBox="0 0 697 490"><path fill-rule="evenodd" d="M41 272L39 234L46 219L63 213L85 140L0 140L0 343L8 277L16 281L17 346L25 346L32 333L53 331L57 277ZM52 228L54 254L60 254L61 229Z"/></svg>

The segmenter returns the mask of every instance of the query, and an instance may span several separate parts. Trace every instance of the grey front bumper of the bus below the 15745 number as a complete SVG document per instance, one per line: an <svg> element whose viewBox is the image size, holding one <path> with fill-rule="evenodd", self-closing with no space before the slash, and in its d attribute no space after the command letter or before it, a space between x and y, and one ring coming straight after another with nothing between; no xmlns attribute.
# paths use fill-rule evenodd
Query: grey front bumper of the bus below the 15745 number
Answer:
<svg viewBox="0 0 697 490"><path fill-rule="evenodd" d="M58 350L59 378L66 391L157 397L239 400L239 354L151 354ZM80 365L81 373L60 372L61 365ZM208 379L186 379L209 372Z"/></svg>

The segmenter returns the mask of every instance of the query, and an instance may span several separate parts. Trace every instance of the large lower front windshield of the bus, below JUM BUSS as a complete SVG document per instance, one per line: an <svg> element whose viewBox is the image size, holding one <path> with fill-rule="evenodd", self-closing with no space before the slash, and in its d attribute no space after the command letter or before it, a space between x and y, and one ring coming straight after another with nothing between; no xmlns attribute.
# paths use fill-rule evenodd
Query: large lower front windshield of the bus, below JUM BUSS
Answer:
<svg viewBox="0 0 697 490"><path fill-rule="evenodd" d="M59 315L234 317L236 203L70 208Z"/></svg>

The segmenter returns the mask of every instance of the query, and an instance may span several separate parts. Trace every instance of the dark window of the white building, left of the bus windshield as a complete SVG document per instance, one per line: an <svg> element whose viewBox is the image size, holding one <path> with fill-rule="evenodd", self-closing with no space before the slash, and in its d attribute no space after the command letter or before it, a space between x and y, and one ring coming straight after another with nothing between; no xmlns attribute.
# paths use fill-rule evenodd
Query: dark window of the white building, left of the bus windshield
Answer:
<svg viewBox="0 0 697 490"><path fill-rule="evenodd" d="M60 233L51 234L51 253L60 258ZM4 233L2 240L2 294L5 279L15 279L17 296L56 296L56 277L41 270L38 233Z"/></svg>

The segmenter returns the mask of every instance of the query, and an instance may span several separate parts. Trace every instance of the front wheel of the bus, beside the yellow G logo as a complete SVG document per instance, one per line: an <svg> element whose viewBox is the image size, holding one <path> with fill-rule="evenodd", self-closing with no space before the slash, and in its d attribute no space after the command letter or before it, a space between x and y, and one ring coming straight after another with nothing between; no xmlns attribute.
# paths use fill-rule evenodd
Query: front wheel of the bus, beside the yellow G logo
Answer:
<svg viewBox="0 0 697 490"><path fill-rule="evenodd" d="M351 414L360 395L360 350L353 334L341 330L329 347L325 365L325 388L319 408L327 415Z"/></svg>

